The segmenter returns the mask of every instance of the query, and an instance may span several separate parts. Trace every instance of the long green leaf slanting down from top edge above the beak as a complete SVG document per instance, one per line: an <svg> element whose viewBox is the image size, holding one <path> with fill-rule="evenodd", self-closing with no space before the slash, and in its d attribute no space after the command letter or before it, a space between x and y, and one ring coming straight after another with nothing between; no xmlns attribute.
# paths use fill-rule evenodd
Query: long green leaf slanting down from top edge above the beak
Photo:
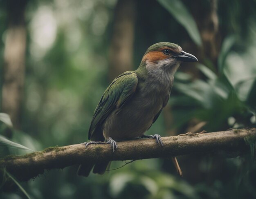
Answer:
<svg viewBox="0 0 256 199"><path fill-rule="evenodd" d="M202 39L193 16L180 0L158 0L158 2L186 29L196 45L202 45Z"/></svg>

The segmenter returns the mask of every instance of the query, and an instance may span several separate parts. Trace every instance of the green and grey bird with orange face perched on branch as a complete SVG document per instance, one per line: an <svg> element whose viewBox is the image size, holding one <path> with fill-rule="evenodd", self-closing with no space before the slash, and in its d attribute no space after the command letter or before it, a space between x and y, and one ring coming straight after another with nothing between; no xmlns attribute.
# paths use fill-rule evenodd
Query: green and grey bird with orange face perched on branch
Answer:
<svg viewBox="0 0 256 199"><path fill-rule="evenodd" d="M159 42L151 45L135 71L115 78L103 93L92 117L85 147L91 144L110 144L113 152L118 141L153 138L163 145L161 136L145 135L168 103L174 74L182 62L198 62L180 45ZM103 174L110 162L86 163L77 174L88 177ZM176 166L176 165L175 165Z"/></svg>

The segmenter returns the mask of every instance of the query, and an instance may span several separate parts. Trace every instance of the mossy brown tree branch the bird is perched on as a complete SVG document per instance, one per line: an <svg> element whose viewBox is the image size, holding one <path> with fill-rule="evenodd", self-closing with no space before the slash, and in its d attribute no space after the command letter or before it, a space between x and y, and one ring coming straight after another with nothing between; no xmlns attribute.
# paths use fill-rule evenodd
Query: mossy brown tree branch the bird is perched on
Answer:
<svg viewBox="0 0 256 199"><path fill-rule="evenodd" d="M249 143L256 141L256 129L186 133L162 137L162 141L163 147L153 139L118 142L115 152L112 152L110 145L89 145L87 148L83 144L49 147L23 156L5 157L0 160L0 168L6 168L21 181L27 181L43 174L45 169L60 169L87 162L164 158L185 154L225 154L236 157L250 151Z"/></svg>

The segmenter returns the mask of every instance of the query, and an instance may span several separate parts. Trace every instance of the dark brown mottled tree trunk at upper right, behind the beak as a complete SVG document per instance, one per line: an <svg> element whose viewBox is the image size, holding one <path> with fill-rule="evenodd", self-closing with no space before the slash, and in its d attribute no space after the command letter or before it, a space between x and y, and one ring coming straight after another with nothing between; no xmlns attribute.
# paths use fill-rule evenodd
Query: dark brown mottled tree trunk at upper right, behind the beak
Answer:
<svg viewBox="0 0 256 199"><path fill-rule="evenodd" d="M184 1L184 4L191 4L190 11L198 25L198 30L202 38L202 47L196 46L192 41L185 42L182 44L182 47L187 51L192 52L201 63L217 71L217 60L221 45L217 0ZM202 77L198 69L196 67L191 67L190 63L183 63L181 70L192 74L194 78Z"/></svg>

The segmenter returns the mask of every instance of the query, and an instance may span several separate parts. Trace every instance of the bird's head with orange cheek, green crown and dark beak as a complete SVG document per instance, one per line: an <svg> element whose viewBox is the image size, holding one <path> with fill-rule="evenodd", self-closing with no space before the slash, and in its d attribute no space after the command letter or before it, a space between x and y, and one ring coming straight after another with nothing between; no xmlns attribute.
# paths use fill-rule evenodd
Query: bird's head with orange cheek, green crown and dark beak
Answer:
<svg viewBox="0 0 256 199"><path fill-rule="evenodd" d="M142 65L150 70L164 69L175 73L181 62L198 62L198 59L174 43L160 42L148 48L142 58Z"/></svg>

